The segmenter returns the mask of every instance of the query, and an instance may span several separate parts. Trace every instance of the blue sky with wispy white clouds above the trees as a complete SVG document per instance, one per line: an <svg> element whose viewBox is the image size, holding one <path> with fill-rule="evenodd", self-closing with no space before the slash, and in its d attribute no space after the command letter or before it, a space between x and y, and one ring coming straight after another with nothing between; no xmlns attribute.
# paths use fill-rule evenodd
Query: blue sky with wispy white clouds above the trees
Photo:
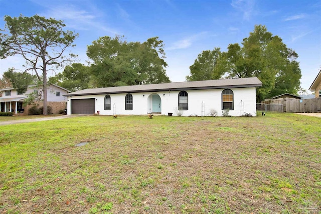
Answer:
<svg viewBox="0 0 321 214"><path fill-rule="evenodd" d="M139 42L159 37L172 82L185 81L202 51L226 51L260 24L299 55L302 88L308 89L321 69L321 0L0 0L0 29L5 15L20 14L63 20L66 29L79 34L71 51L82 63L87 45L99 37L124 35ZM0 60L0 75L23 63L18 56Z"/></svg>

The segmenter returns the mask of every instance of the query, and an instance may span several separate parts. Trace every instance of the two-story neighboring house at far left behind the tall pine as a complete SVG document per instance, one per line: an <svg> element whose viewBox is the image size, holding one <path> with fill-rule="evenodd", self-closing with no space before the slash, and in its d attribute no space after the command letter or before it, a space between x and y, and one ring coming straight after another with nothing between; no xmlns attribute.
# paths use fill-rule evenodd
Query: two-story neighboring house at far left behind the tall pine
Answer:
<svg viewBox="0 0 321 214"><path fill-rule="evenodd" d="M27 112L29 106L24 106L24 100L28 98L28 94L37 92L40 93L41 89L36 85L30 85L25 93L14 88L0 89L2 97L0 97L0 110L2 112ZM59 110L66 108L67 99L63 95L70 92L69 90L60 86L49 84L47 88L47 101L48 106L53 108L53 113L58 113ZM43 99L43 94L42 94ZM39 103L40 106L43 102Z"/></svg>

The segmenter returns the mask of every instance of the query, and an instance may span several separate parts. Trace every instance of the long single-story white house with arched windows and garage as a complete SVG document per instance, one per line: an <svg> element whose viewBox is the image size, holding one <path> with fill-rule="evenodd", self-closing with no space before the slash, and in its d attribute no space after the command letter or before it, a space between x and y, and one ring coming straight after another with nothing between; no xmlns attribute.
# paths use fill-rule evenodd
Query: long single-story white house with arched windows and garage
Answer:
<svg viewBox="0 0 321 214"><path fill-rule="evenodd" d="M256 115L256 77L85 89L65 94L68 114Z"/></svg>

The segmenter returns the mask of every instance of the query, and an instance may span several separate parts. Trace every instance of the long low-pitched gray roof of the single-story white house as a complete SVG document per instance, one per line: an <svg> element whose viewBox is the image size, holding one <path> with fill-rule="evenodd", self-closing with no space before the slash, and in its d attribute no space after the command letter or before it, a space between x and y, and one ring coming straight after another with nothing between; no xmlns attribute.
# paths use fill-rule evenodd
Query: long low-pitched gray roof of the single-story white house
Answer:
<svg viewBox="0 0 321 214"><path fill-rule="evenodd" d="M135 92L157 92L157 91L180 91L199 89L219 89L219 88L245 88L260 87L262 82L257 77L240 79L204 80L192 82L161 83L149 85L118 86L108 88L90 88L75 91L63 96L80 96L95 94L118 94Z"/></svg>

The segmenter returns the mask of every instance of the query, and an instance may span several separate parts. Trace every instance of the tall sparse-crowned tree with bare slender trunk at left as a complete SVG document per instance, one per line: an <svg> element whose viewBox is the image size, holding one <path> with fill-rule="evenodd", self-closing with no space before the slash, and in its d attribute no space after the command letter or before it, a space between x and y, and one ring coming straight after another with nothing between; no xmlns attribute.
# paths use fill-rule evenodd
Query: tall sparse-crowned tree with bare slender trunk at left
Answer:
<svg viewBox="0 0 321 214"><path fill-rule="evenodd" d="M64 55L78 34L64 31L63 21L40 16L5 16L5 30L0 33L0 59L21 55L25 60L26 72L36 74L42 82L44 112L47 114L47 72L61 67L75 55Z"/></svg>

